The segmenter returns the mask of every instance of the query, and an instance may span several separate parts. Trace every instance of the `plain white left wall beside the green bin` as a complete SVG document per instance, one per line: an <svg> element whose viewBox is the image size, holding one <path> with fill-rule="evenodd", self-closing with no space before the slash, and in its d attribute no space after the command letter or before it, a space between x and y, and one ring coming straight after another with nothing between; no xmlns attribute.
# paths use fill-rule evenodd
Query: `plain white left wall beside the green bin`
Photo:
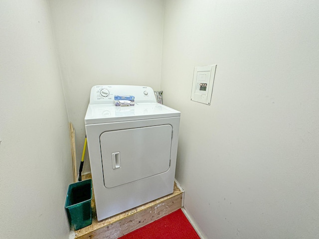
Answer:
<svg viewBox="0 0 319 239"><path fill-rule="evenodd" d="M68 119L46 0L0 1L0 237L68 238Z"/></svg>

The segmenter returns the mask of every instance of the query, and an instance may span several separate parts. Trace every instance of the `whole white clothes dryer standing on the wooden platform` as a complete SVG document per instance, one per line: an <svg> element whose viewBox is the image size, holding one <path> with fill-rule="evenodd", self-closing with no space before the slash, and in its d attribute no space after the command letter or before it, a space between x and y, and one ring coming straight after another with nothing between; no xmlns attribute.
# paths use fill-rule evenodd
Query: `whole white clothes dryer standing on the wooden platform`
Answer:
<svg viewBox="0 0 319 239"><path fill-rule="evenodd" d="M115 106L115 95L135 105ZM173 192L179 119L150 87L92 88L85 129L99 221Z"/></svg>

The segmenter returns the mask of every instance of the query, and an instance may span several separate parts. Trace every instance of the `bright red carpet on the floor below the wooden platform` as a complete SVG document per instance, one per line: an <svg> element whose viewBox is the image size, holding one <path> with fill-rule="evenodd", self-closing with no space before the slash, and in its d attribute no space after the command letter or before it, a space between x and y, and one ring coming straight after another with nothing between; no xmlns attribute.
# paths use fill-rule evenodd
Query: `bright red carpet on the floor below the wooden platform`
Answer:
<svg viewBox="0 0 319 239"><path fill-rule="evenodd" d="M181 211L162 217L161 219L135 230L120 239L200 239L187 218Z"/></svg>

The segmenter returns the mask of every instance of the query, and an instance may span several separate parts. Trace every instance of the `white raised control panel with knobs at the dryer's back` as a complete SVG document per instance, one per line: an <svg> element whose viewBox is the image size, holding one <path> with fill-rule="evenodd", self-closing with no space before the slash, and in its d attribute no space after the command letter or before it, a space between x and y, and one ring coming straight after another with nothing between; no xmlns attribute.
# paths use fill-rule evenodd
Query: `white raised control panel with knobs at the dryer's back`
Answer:
<svg viewBox="0 0 319 239"><path fill-rule="evenodd" d="M136 103L156 103L154 91L147 86L98 85L93 86L90 105L114 104L114 96L134 96Z"/></svg>

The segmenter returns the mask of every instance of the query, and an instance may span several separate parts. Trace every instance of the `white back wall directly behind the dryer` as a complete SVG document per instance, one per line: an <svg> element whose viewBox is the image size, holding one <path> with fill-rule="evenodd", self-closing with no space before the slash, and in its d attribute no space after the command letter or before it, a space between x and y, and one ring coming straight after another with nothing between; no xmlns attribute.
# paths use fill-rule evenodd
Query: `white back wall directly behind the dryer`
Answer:
<svg viewBox="0 0 319 239"><path fill-rule="evenodd" d="M92 86L145 85L160 90L163 2L49 2L79 165ZM86 157L83 172L88 171Z"/></svg>

